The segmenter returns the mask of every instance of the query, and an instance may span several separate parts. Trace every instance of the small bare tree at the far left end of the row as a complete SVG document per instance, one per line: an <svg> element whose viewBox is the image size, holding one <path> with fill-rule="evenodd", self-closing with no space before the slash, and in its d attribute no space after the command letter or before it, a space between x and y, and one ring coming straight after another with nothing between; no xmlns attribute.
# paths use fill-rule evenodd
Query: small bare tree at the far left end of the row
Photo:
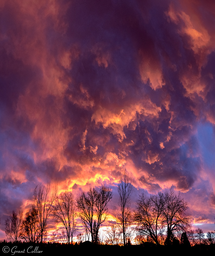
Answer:
<svg viewBox="0 0 215 256"><path fill-rule="evenodd" d="M17 239L20 237L22 216L23 211L19 211L19 214L17 215L13 210L12 215L10 215L11 223L8 218L5 220L5 234L11 242L17 242Z"/></svg>

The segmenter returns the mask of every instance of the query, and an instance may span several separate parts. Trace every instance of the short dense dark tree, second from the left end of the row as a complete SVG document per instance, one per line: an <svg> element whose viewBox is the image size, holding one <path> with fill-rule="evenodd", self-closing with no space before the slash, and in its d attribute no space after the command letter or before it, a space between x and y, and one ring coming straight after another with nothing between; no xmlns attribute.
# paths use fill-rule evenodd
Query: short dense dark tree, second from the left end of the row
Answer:
<svg viewBox="0 0 215 256"><path fill-rule="evenodd" d="M20 237L26 242L38 242L41 235L38 224L38 209L32 205L22 221Z"/></svg>

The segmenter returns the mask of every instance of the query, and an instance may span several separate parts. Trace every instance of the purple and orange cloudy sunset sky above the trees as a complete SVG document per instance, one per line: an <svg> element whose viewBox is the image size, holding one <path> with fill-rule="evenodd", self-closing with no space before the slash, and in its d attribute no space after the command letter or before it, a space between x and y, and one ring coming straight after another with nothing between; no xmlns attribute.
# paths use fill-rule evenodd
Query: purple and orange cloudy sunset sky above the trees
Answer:
<svg viewBox="0 0 215 256"><path fill-rule="evenodd" d="M0 239L50 182L74 196L125 168L215 229L213 0L0 0Z"/></svg>

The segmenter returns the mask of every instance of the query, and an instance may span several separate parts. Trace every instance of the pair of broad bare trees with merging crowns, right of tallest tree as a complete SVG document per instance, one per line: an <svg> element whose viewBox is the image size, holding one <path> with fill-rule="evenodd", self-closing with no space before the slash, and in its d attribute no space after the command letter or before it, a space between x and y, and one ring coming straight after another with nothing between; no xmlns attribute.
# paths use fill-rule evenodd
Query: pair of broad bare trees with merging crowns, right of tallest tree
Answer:
<svg viewBox="0 0 215 256"><path fill-rule="evenodd" d="M185 214L187 209L187 202L173 190L158 192L149 197L142 193L134 211L135 230L149 236L157 245L161 244L160 238L163 230L166 230L164 244L170 245L175 233L191 229L190 217Z"/></svg>

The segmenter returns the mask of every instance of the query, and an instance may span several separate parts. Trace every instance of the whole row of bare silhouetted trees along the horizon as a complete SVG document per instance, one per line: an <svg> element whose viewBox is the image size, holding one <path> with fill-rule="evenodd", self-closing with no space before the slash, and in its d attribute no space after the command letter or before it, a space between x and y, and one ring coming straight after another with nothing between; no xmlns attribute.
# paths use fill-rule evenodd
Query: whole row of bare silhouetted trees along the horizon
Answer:
<svg viewBox="0 0 215 256"><path fill-rule="evenodd" d="M144 242L156 245L195 245L215 243L213 231L204 233L191 229L191 217L186 215L188 203L173 190L158 192L150 196L143 193L131 209L132 178L126 169L120 175L117 191L118 205L112 211L113 221L102 234L100 227L107 220L108 203L113 197L111 188L102 185L82 192L76 199L71 191L57 195L57 186L50 191L50 184L38 185L34 189L33 203L23 217L23 211L12 212L5 220L5 234L9 241L43 243L47 240L48 220L52 218L58 226L50 242L73 243L75 234L78 243L91 240L94 244L129 245ZM49 192L51 196L49 197ZM78 233L78 223L85 232Z"/></svg>

